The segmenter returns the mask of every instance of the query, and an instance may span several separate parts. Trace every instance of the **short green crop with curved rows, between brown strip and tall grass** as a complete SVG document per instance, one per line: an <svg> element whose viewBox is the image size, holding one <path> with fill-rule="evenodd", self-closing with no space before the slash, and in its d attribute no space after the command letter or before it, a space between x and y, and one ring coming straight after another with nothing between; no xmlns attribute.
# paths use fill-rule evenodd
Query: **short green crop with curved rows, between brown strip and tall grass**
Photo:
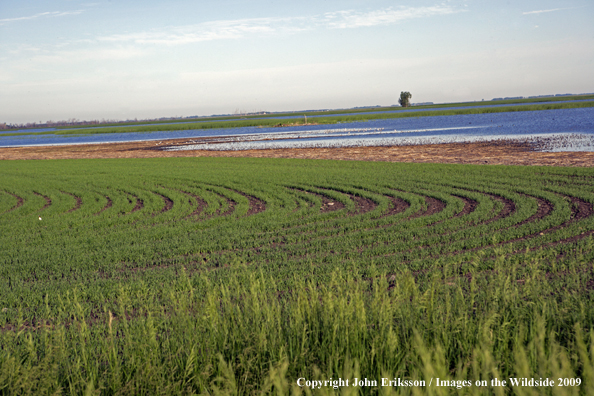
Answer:
<svg viewBox="0 0 594 396"><path fill-rule="evenodd" d="M166 284L180 268L227 276L225 269L248 266L286 281L304 268L321 278L370 263L422 273L477 256L488 269L502 251L591 252L587 169L319 164L3 163L4 304L34 305L84 284L96 309L122 282Z"/></svg>

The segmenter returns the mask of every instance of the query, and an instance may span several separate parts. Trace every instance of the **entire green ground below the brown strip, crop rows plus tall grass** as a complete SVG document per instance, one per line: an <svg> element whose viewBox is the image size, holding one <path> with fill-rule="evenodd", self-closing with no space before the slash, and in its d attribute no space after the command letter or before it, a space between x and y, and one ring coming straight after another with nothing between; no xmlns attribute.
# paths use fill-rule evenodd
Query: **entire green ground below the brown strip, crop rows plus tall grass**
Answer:
<svg viewBox="0 0 594 396"><path fill-rule="evenodd" d="M0 394L591 395L593 207L585 168L0 162Z"/></svg>

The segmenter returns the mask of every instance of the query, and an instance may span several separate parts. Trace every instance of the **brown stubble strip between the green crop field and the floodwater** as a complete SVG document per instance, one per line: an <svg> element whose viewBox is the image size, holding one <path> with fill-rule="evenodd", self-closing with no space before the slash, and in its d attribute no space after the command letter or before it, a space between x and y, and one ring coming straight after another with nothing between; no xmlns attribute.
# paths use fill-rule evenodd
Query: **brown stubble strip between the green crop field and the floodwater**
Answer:
<svg viewBox="0 0 594 396"><path fill-rule="evenodd" d="M0 159L76 159L151 157L266 157L309 158L388 162L433 162L450 164L594 166L594 152L543 153L528 143L483 142L448 143L392 147L344 147L307 149L269 149L242 151L163 151L187 139L158 143L127 142L67 146L0 148Z"/></svg>

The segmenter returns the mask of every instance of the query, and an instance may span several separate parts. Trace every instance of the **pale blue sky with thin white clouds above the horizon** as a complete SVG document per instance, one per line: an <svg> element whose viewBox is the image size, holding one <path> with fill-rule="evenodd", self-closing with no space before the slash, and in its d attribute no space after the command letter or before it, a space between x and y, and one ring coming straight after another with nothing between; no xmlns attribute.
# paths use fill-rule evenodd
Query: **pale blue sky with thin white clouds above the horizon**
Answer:
<svg viewBox="0 0 594 396"><path fill-rule="evenodd" d="M591 0L1 0L0 123L594 92Z"/></svg>

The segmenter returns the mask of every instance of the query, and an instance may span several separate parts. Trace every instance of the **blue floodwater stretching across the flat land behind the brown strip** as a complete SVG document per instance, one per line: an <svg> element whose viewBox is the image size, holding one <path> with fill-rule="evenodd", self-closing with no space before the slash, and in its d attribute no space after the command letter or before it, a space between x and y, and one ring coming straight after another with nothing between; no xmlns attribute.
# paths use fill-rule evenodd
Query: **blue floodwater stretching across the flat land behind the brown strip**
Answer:
<svg viewBox="0 0 594 396"><path fill-rule="evenodd" d="M308 117L309 118L309 117ZM339 124L54 135L0 134L0 147L189 139L171 150L391 146L519 140L544 151L593 151L594 108L458 114ZM31 130L27 131L30 133ZM36 130L39 131L39 130ZM26 133L25 131L23 131ZM11 133L14 134L14 131ZM192 141L195 139L195 141Z"/></svg>

